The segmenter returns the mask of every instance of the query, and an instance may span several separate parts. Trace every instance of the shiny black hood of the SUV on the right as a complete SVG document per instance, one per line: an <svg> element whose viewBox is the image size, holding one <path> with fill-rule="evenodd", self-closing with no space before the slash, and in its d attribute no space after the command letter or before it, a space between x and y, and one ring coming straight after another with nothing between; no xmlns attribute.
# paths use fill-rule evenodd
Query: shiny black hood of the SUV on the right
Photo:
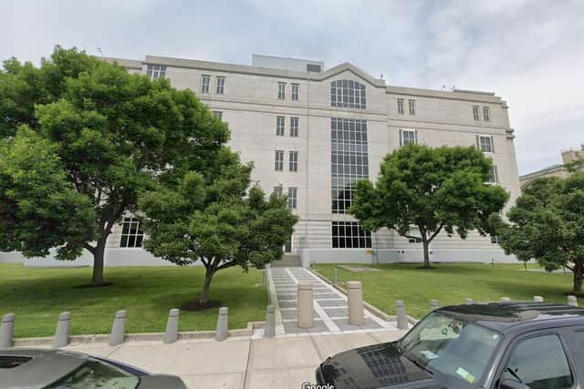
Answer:
<svg viewBox="0 0 584 389"><path fill-rule="evenodd" d="M382 343L338 353L320 367L320 374L335 389L365 389L392 386L444 388L400 353L398 343Z"/></svg>

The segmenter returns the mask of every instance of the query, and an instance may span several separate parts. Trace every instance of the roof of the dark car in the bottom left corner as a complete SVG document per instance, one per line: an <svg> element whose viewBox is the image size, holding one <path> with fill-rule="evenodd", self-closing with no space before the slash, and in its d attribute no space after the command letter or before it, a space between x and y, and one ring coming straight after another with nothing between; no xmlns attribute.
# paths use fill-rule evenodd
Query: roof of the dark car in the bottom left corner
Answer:
<svg viewBox="0 0 584 389"><path fill-rule="evenodd" d="M88 355L65 350L0 350L3 387L44 387L77 369Z"/></svg>

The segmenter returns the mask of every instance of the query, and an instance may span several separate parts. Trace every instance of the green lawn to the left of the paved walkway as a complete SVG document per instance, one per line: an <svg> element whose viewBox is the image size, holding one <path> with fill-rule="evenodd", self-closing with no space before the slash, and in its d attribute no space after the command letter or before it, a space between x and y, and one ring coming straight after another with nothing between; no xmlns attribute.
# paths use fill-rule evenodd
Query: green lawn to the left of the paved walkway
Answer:
<svg viewBox="0 0 584 389"><path fill-rule="evenodd" d="M59 312L71 312L71 333L110 333L114 313L127 311L128 333L164 332L168 311L193 301L203 284L201 267L108 268L105 288L74 289L91 279L90 268L26 268L0 264L0 315L16 313L16 337L55 333ZM240 268L215 274L211 300L229 307L229 328L262 321L267 293L261 271ZM218 308L181 312L181 331L214 330Z"/></svg>

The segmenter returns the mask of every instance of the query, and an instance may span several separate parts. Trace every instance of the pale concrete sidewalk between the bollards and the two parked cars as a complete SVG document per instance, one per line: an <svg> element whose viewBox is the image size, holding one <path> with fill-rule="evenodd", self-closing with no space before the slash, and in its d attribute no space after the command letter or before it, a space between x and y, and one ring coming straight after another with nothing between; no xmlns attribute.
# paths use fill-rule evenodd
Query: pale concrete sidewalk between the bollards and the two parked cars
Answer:
<svg viewBox="0 0 584 389"><path fill-rule="evenodd" d="M399 339L402 331L298 334L271 339L251 336L193 339L172 344L127 342L71 344L66 349L109 357L151 373L175 374L189 388L298 389L315 383L315 369L328 356L363 345Z"/></svg>

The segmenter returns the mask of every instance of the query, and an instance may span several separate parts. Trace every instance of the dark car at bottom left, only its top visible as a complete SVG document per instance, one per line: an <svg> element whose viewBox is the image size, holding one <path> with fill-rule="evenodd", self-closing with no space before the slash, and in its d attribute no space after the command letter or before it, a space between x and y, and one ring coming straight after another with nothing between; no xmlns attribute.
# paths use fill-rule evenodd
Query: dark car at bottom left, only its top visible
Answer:
<svg viewBox="0 0 584 389"><path fill-rule="evenodd" d="M99 356L65 350L0 350L0 388L186 389L179 377L150 374Z"/></svg>

